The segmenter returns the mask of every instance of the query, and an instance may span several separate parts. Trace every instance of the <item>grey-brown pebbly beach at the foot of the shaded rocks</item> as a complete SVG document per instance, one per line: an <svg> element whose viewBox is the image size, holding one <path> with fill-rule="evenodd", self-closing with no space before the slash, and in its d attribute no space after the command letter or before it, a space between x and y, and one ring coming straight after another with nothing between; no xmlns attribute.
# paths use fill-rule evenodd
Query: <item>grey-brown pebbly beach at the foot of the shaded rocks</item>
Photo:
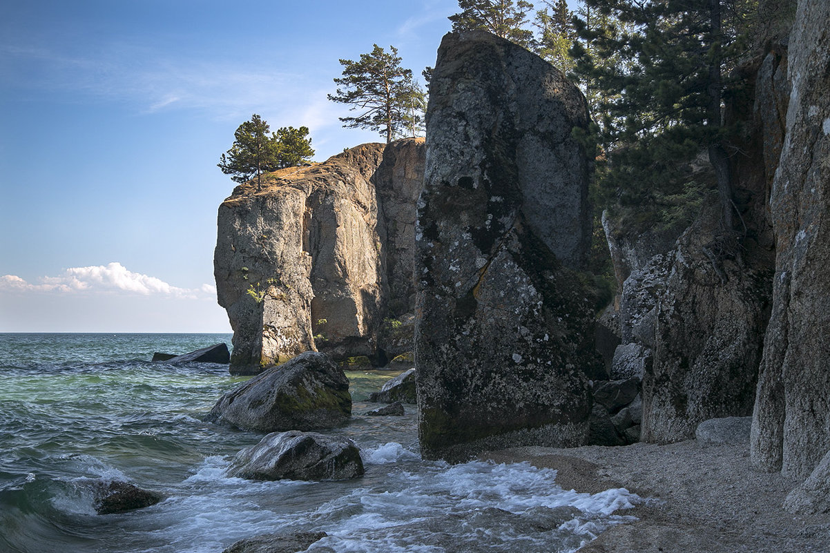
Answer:
<svg viewBox="0 0 830 553"><path fill-rule="evenodd" d="M752 470L748 443L531 446L480 458L554 468L564 489L596 493L625 487L640 497L662 500L625 511L637 521L609 528L580 552L821 553L830 544L830 514L784 511L784 497L800 482L780 472Z"/></svg>

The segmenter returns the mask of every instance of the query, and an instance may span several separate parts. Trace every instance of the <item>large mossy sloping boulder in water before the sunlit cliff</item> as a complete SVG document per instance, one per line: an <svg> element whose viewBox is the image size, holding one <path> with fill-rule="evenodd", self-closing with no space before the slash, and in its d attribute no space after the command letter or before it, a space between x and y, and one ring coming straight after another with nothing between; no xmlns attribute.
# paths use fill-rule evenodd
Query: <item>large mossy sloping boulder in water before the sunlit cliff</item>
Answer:
<svg viewBox="0 0 830 553"><path fill-rule="evenodd" d="M332 428L349 420L349 380L328 355L306 352L232 389L207 420L274 432Z"/></svg>

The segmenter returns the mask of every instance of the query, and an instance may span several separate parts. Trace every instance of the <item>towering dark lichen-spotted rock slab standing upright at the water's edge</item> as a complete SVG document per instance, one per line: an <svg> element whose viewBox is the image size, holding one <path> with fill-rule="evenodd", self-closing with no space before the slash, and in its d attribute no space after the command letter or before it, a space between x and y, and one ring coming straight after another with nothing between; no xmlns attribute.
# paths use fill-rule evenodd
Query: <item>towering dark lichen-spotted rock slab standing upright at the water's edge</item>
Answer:
<svg viewBox="0 0 830 553"><path fill-rule="evenodd" d="M540 57L444 37L415 238L425 458L588 437L589 163L571 135L587 125L583 95Z"/></svg>

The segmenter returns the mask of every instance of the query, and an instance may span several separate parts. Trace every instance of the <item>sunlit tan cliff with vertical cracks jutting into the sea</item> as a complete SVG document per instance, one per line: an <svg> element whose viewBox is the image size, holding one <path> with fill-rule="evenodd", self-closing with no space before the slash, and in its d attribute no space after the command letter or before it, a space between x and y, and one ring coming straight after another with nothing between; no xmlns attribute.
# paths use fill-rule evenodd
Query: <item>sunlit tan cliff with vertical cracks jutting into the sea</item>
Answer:
<svg viewBox="0 0 830 553"><path fill-rule="evenodd" d="M239 186L222 203L214 275L234 332L232 372L307 350L376 354L388 297L403 306L393 316L413 305L407 237L422 159L422 139L364 144L269 174L261 192Z"/></svg>

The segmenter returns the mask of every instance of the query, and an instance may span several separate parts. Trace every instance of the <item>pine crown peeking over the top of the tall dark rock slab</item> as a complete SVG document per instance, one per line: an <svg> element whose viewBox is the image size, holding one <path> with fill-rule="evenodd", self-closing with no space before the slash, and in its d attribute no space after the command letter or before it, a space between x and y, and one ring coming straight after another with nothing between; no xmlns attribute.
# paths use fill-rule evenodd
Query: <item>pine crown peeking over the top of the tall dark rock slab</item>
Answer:
<svg viewBox="0 0 830 553"><path fill-rule="evenodd" d="M489 31L525 48L533 45L533 32L524 28L533 4L526 0L458 0L461 12L448 17L453 32Z"/></svg>

